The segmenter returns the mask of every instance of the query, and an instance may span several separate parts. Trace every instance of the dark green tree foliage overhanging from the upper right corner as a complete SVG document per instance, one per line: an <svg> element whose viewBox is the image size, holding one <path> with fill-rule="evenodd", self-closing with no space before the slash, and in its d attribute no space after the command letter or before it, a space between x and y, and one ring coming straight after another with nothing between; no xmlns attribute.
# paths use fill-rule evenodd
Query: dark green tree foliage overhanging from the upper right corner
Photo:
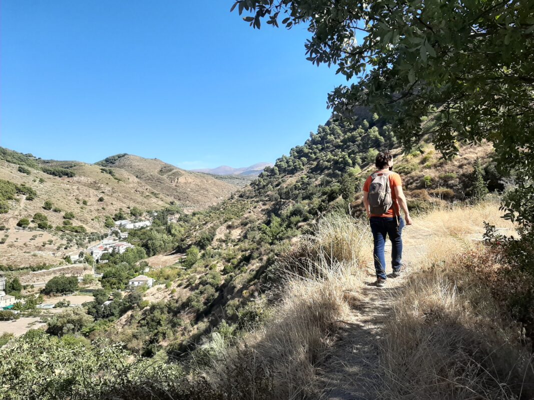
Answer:
<svg viewBox="0 0 534 400"><path fill-rule="evenodd" d="M458 142L491 141L501 169L527 177L505 201L508 217L514 210L519 222L534 223L533 2L238 0L236 7L254 28L262 20L308 25L308 60L358 78L329 94L338 115L371 106L390 118L403 146L429 133L446 157Z"/></svg>

